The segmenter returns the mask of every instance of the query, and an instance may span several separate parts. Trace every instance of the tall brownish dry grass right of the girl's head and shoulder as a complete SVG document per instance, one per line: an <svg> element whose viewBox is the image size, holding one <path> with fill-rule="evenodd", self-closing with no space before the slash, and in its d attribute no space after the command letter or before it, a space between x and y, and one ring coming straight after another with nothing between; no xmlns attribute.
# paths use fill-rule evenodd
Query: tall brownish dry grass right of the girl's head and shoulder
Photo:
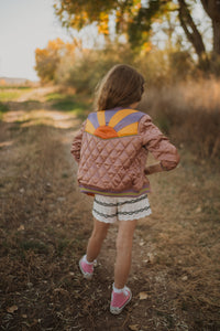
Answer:
<svg viewBox="0 0 220 331"><path fill-rule="evenodd" d="M220 82L207 79L150 88L141 104L172 139L219 163Z"/></svg>

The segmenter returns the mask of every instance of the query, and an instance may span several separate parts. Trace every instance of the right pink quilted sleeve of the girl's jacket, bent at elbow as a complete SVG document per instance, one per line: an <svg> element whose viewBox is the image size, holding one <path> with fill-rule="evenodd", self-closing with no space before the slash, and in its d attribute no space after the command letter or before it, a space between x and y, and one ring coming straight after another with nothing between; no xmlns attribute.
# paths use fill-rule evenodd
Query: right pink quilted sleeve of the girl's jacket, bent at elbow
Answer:
<svg viewBox="0 0 220 331"><path fill-rule="evenodd" d="M161 161L162 169L168 171L176 168L179 162L179 154L176 147L152 122L148 115L142 117L139 131L143 146L156 160Z"/></svg>

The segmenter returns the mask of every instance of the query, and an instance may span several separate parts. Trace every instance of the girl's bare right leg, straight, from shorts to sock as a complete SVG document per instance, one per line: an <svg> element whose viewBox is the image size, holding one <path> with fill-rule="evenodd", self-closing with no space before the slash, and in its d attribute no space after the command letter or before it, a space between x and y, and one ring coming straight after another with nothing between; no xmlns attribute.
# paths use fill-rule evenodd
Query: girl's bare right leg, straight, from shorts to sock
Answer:
<svg viewBox="0 0 220 331"><path fill-rule="evenodd" d="M133 234L135 221L120 221L117 237L117 261L114 266L114 287L124 287L131 268Z"/></svg>

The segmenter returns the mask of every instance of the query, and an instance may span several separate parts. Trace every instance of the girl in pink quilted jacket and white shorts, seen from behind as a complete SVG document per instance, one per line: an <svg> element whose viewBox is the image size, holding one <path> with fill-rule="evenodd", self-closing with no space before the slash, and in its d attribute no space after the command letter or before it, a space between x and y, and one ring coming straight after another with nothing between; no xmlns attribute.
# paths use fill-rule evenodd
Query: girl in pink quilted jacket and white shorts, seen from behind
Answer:
<svg viewBox="0 0 220 331"><path fill-rule="evenodd" d="M109 225L119 220L117 259L110 311L118 314L130 302L125 286L136 221L151 214L146 174L174 169L179 162L176 148L135 110L144 92L144 78L129 65L116 65L102 79L96 113L89 114L76 135L72 153L78 162L81 192L94 195L94 231L79 268L86 278L94 274ZM160 162L146 167L147 153Z"/></svg>

